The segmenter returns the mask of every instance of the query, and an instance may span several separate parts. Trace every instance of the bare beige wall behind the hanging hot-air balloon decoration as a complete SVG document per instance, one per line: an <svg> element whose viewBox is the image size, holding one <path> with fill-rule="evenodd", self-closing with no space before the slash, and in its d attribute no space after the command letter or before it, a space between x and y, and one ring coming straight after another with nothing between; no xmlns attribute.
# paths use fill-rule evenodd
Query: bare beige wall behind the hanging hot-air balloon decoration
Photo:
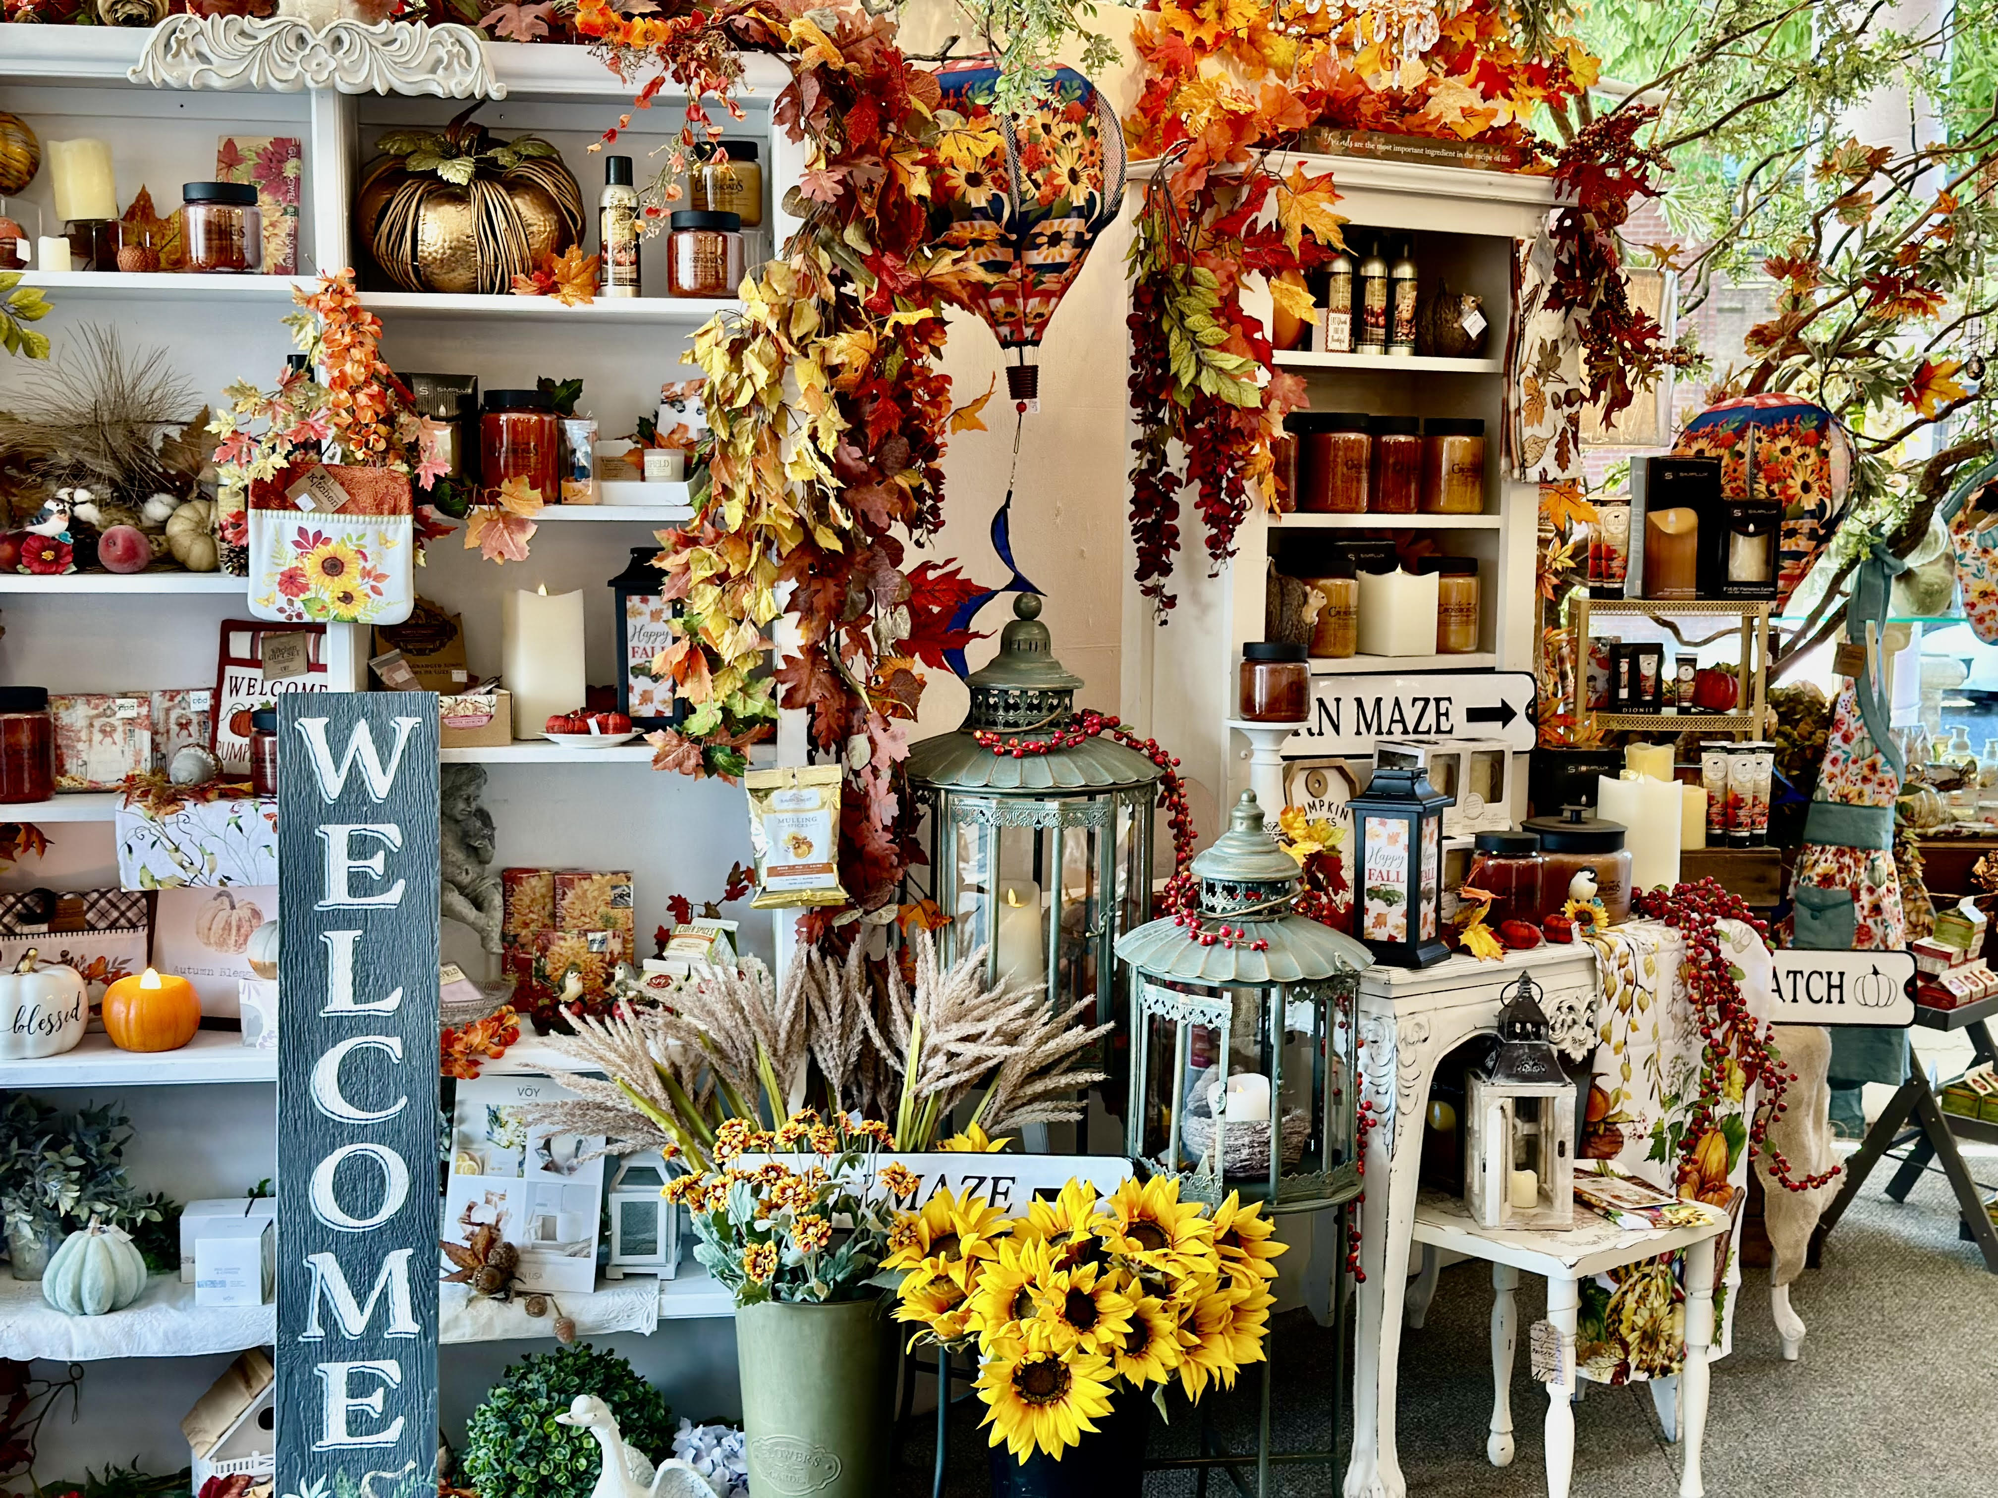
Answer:
<svg viewBox="0 0 1998 1498"><path fill-rule="evenodd" d="M1121 36L1131 12L1105 6L1103 30ZM915 0L903 12L903 46L935 52L963 16L939 0ZM961 56L967 48L955 48ZM1129 70L1097 80L1119 102L1135 84ZM1129 210L1129 204L1127 204ZM1129 214L1127 214L1129 216ZM1041 409L1025 417L1019 439L1019 477L1013 493L1013 557L1047 593L1047 619L1055 653L1087 683L1077 701L1105 713L1119 711L1125 529L1125 246L1129 224L1119 220L1097 240L1081 274L1061 300L1041 344ZM993 587L1007 571L993 555L991 517L1005 499L1013 461L1013 407L1005 397L999 342L977 318L953 314L943 368L961 401L977 397L997 375L999 389L985 407L989 431L951 437L945 457L945 525L925 557L959 557L965 571ZM1011 597L985 605L979 627L993 639L977 641L967 659L983 665L1011 619ZM965 713L965 689L949 671L927 671L923 713L915 737L955 729Z"/></svg>

